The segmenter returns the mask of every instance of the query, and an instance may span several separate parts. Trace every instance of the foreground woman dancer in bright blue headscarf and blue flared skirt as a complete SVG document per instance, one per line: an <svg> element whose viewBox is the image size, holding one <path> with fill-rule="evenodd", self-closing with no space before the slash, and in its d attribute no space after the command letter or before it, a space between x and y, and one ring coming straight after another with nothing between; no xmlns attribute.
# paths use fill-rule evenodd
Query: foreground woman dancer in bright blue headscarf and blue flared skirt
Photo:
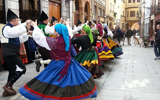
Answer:
<svg viewBox="0 0 160 100"><path fill-rule="evenodd" d="M51 63L19 92L30 100L82 100L97 96L92 75L70 56L71 41L63 24L55 26L55 36L45 37L34 22L33 38L50 51Z"/></svg>

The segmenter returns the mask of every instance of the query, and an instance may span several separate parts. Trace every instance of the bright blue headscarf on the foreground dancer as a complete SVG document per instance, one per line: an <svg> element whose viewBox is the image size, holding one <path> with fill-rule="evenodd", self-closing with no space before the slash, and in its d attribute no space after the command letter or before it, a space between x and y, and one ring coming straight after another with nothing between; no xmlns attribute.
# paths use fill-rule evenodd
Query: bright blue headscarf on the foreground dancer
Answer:
<svg viewBox="0 0 160 100"><path fill-rule="evenodd" d="M69 51L70 41L67 27L63 24L57 24L55 26L55 30L58 34L63 36L64 42L66 44L65 51Z"/></svg>

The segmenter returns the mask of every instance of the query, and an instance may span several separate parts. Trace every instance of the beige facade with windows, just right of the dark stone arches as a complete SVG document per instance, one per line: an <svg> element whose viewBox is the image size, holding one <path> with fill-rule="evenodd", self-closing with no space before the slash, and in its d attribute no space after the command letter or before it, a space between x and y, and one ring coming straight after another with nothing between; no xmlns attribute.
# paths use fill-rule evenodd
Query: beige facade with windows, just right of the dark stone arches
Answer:
<svg viewBox="0 0 160 100"><path fill-rule="evenodd" d="M105 15L105 10L106 10L106 0L93 0L94 2L92 3L92 21L94 22L106 22L106 15Z"/></svg>

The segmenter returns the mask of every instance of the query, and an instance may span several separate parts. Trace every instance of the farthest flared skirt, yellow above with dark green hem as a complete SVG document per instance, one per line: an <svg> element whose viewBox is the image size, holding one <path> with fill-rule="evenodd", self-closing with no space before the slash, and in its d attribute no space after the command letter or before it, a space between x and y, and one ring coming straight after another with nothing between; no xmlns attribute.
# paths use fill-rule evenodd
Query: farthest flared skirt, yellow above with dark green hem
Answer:
<svg viewBox="0 0 160 100"><path fill-rule="evenodd" d="M114 57L117 57L123 54L122 48L119 47L113 40L107 38L107 39L104 39L103 41L112 51L112 54L114 55Z"/></svg>

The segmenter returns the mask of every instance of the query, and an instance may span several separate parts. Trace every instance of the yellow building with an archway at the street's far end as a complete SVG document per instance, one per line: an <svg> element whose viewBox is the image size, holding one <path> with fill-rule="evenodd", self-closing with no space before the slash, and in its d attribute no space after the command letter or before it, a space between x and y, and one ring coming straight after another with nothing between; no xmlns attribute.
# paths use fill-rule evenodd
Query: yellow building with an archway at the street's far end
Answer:
<svg viewBox="0 0 160 100"><path fill-rule="evenodd" d="M126 0L125 3L125 27L128 29L133 24L140 21L139 7L141 6L141 0Z"/></svg>

